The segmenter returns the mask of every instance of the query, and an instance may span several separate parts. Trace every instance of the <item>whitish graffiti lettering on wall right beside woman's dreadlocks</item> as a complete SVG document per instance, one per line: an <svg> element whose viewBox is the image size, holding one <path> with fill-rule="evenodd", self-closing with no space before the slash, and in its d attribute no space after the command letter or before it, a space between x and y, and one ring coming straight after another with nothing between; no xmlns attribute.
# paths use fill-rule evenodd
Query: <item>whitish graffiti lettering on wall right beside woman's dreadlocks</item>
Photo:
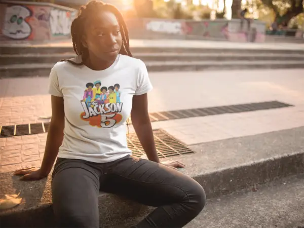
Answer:
<svg viewBox="0 0 304 228"><path fill-rule="evenodd" d="M71 23L74 19L74 15L71 12L52 9L50 16L50 26L53 35L67 35L70 33Z"/></svg>

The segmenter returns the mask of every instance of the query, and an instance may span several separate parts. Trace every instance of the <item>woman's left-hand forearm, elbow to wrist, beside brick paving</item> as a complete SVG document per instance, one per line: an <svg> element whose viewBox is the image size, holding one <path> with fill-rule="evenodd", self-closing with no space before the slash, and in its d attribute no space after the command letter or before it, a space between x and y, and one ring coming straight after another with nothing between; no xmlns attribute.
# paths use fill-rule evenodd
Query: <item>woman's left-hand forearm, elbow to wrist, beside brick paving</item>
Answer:
<svg viewBox="0 0 304 228"><path fill-rule="evenodd" d="M61 126L50 124L47 143L45 148L45 154L43 157L41 170L46 175L52 170L56 157L58 155L59 147L63 140L63 128Z"/></svg>

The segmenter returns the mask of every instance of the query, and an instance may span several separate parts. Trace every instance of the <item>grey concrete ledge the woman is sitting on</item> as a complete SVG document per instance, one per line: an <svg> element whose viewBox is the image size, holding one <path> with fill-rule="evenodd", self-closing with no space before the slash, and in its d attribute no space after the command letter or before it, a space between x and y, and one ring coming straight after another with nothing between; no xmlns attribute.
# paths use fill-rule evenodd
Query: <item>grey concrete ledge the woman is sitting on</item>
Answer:
<svg viewBox="0 0 304 228"><path fill-rule="evenodd" d="M186 168L180 171L195 178L205 188L208 199L216 199L241 189L259 188L258 184L277 178L304 173L303 141L304 127L301 127L189 146L196 151L194 155L174 159L186 164ZM0 183L0 199L4 194L19 192L25 199L18 207L0 211L0 224L10 228L25 228L24 224L27 227L54 227L50 176L40 181L24 182L19 181L18 177L12 177L12 173L4 173L0 174ZM266 203L271 205L274 202L268 200ZM275 208L281 208L276 205ZM130 227L131 223L136 223L154 209L105 193L99 196L99 208L100 227L111 228ZM243 213L247 211L249 214L251 209L245 207ZM211 215L212 207L209 210L206 213ZM246 218L243 214L234 216L238 219ZM216 217L210 218L209 224L212 221L216 224Z"/></svg>

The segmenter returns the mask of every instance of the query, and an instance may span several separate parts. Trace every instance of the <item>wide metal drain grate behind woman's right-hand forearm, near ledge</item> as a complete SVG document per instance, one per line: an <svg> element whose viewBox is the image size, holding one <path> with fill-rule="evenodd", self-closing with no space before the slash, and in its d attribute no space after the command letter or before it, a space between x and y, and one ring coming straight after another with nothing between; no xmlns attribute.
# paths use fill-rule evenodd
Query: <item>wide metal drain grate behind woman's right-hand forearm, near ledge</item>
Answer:
<svg viewBox="0 0 304 228"><path fill-rule="evenodd" d="M153 130L153 134L157 153L160 158L169 158L194 153L193 150L189 149L163 130ZM145 155L136 133L128 134L127 139L128 147L132 150L133 156L141 157L142 155Z"/></svg>

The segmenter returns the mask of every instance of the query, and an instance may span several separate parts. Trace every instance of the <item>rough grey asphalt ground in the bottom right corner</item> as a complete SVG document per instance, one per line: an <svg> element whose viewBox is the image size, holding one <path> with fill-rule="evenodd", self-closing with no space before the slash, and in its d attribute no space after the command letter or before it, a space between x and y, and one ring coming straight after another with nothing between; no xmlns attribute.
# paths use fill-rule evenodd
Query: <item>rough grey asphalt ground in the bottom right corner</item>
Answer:
<svg viewBox="0 0 304 228"><path fill-rule="evenodd" d="M304 175L265 184L257 192L211 199L186 228L304 227ZM299 222L301 221L301 222Z"/></svg>

